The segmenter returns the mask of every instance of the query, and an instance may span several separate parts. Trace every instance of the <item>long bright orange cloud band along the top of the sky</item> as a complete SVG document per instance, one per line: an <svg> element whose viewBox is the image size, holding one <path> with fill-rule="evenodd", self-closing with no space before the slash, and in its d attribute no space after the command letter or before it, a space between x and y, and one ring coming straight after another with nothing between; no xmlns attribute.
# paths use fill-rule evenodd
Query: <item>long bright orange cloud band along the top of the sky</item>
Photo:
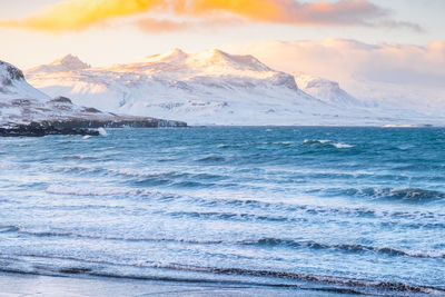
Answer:
<svg viewBox="0 0 445 297"><path fill-rule="evenodd" d="M417 24L398 22L390 12L368 0L320 0L306 3L297 0L69 0L20 20L0 21L2 27L41 31L79 31L105 21L139 13L174 14L176 17L238 17L254 22L275 22L296 26L369 26L419 29ZM154 31L178 29L176 20L142 23ZM179 22L180 24L180 22ZM140 26L140 23L139 23Z"/></svg>

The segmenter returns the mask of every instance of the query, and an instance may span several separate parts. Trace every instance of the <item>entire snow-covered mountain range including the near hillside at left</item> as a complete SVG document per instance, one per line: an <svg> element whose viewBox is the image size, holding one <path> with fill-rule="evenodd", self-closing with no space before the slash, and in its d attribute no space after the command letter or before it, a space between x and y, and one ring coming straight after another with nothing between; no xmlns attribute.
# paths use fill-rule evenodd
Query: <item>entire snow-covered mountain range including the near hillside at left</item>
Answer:
<svg viewBox="0 0 445 297"><path fill-rule="evenodd" d="M335 81L277 71L253 56L217 49L192 55L174 49L134 63L105 68L91 67L68 55L26 71L27 80L39 90L13 66L6 62L0 66L0 123L3 125L62 118L111 119L117 113L177 119L189 125L443 122L414 110L365 102Z"/></svg>

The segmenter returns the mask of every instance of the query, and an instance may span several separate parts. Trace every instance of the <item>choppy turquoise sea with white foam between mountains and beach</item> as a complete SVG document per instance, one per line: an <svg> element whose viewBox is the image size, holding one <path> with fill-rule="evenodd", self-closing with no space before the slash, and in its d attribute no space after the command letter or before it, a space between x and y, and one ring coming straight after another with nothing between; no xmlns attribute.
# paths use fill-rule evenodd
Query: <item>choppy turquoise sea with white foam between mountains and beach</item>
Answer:
<svg viewBox="0 0 445 297"><path fill-rule="evenodd" d="M445 295L445 129L0 138L0 268Z"/></svg>

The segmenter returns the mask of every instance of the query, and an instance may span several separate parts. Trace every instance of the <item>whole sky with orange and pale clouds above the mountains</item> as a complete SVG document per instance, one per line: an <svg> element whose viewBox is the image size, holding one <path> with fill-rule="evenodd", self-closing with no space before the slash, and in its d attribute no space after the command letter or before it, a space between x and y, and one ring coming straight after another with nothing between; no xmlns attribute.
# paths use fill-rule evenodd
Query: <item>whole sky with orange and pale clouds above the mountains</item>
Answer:
<svg viewBox="0 0 445 297"><path fill-rule="evenodd" d="M332 38L429 47L445 39L444 11L444 0L0 0L0 60L27 69L72 53L107 66L172 48Z"/></svg>

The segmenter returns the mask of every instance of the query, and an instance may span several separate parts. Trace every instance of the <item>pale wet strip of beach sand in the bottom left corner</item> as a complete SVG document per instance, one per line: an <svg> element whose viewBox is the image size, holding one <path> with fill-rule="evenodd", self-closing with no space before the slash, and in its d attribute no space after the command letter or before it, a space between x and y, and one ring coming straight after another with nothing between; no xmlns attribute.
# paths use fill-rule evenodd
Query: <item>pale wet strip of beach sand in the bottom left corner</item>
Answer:
<svg viewBox="0 0 445 297"><path fill-rule="evenodd" d="M0 296L100 297L100 296L358 296L306 288L237 284L135 280L105 277L56 277L0 273Z"/></svg>

